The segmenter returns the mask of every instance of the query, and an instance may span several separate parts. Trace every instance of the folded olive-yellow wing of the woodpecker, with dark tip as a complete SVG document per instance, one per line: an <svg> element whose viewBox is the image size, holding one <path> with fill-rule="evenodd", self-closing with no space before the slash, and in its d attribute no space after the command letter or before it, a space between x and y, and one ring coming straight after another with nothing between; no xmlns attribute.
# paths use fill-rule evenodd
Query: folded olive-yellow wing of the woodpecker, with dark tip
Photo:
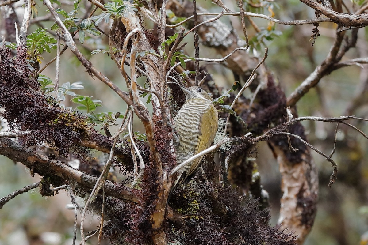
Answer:
<svg viewBox="0 0 368 245"><path fill-rule="evenodd" d="M199 131L201 134L198 137L197 148L195 148L194 154L198 154L199 152L210 147L217 132L218 120L219 116L217 114L217 110L211 104L208 110L202 114L201 124L199 125ZM201 165L203 158L204 156L201 156L193 161L190 169L187 172L187 176L184 178L184 182L188 179L188 177L190 179L192 175L195 174L196 170Z"/></svg>

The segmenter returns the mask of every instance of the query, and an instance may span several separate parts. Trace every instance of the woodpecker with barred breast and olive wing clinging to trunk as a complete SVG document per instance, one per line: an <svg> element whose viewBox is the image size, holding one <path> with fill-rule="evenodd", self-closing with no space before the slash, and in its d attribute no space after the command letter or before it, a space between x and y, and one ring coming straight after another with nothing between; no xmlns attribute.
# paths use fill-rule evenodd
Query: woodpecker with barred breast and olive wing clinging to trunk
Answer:
<svg viewBox="0 0 368 245"><path fill-rule="evenodd" d="M176 146L176 161L180 164L207 149L215 138L219 116L212 104L212 94L198 86L181 87L185 94L185 103L174 118L174 128L179 138ZM178 171L178 179L171 188L187 185L195 175L204 156L201 156ZM169 195L169 196L170 196Z"/></svg>

